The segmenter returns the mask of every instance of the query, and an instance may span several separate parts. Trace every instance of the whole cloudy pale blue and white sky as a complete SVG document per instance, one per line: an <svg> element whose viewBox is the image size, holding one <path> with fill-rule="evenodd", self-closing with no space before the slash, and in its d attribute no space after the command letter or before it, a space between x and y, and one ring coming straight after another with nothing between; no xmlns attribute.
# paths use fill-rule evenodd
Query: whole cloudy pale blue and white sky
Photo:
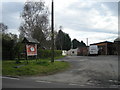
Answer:
<svg viewBox="0 0 120 90"><path fill-rule="evenodd" d="M29 1L29 0L27 0ZM51 11L51 0L44 0ZM19 34L22 13L26 0L3 0L1 18L8 31ZM118 37L117 0L54 0L54 20L57 31L68 33L71 39L83 40L88 44L111 41ZM87 44L87 43L86 43Z"/></svg>

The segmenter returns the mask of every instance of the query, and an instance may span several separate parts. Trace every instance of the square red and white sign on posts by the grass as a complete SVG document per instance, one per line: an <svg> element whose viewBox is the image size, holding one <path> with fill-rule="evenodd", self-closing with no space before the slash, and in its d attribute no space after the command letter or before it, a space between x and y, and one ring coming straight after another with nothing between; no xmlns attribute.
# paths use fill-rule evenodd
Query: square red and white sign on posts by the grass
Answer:
<svg viewBox="0 0 120 90"><path fill-rule="evenodd" d="M27 56L37 55L37 44L35 45L26 45Z"/></svg>

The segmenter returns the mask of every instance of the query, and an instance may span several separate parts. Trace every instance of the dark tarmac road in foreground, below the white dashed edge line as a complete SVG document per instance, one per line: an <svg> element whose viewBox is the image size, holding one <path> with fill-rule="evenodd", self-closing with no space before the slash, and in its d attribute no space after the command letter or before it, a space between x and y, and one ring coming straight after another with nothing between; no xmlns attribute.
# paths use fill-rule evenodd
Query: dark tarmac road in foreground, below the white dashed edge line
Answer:
<svg viewBox="0 0 120 90"><path fill-rule="evenodd" d="M78 85L3 77L2 88L80 88ZM19 90L19 89L18 89ZM34 90L34 89L33 89Z"/></svg>

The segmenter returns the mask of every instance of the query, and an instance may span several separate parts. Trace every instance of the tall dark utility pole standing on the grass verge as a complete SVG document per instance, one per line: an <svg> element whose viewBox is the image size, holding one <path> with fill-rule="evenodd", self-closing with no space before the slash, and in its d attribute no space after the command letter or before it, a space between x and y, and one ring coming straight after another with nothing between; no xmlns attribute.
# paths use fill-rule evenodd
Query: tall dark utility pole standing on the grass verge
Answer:
<svg viewBox="0 0 120 90"><path fill-rule="evenodd" d="M51 8L51 33L52 33L52 57L51 62L54 62L54 3L52 0L52 8Z"/></svg>

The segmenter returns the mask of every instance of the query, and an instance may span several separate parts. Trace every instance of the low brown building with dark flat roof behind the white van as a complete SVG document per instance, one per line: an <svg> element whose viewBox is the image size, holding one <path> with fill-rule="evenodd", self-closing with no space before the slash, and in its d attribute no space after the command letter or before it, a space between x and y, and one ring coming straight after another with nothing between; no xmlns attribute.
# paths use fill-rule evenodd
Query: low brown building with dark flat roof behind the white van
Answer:
<svg viewBox="0 0 120 90"><path fill-rule="evenodd" d="M90 45L97 45L98 46L98 54L99 55L113 55L114 54L114 43L113 42L99 42Z"/></svg>

